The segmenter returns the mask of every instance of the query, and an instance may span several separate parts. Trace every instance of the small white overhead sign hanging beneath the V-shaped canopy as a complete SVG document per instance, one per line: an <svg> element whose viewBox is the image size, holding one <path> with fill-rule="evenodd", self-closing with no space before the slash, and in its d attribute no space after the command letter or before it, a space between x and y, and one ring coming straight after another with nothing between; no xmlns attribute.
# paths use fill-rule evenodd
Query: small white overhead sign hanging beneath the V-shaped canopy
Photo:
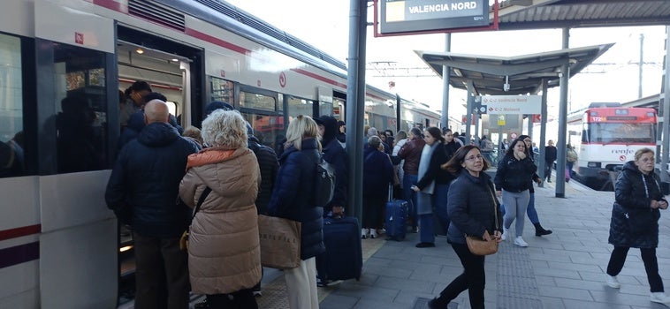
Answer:
<svg viewBox="0 0 670 309"><path fill-rule="evenodd" d="M485 95L482 105L489 114L540 114L542 97L539 95Z"/></svg>

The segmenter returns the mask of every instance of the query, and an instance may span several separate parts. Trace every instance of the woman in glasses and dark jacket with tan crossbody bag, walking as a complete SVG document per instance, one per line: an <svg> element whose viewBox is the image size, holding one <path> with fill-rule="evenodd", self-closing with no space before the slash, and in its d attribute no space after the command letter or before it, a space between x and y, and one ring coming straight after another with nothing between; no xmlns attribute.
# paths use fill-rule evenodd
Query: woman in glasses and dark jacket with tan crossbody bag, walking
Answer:
<svg viewBox="0 0 670 309"><path fill-rule="evenodd" d="M486 241L500 242L502 214L500 204L494 195L493 184L484 170L489 162L483 160L479 147L461 147L453 158L443 166L453 175L459 175L449 188L448 213L452 220L447 234L452 242L463 273L453 279L442 290L438 298L430 301L430 309L445 309L449 302L462 291L468 290L470 307L482 309L483 289L486 282L483 255L475 255L468 250L465 234L482 237Z"/></svg>

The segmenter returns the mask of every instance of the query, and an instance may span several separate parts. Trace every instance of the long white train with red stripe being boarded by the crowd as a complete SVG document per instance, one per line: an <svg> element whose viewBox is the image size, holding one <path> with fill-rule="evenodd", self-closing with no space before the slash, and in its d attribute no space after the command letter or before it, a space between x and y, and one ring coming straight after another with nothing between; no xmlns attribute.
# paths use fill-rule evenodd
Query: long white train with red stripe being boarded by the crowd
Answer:
<svg viewBox="0 0 670 309"><path fill-rule="evenodd" d="M5 0L0 308L118 305L120 233L104 190L118 91L137 79L183 126L200 124L208 102L232 102L270 147L291 117L346 113L344 64L223 2ZM438 124L375 87L365 101L379 129Z"/></svg>

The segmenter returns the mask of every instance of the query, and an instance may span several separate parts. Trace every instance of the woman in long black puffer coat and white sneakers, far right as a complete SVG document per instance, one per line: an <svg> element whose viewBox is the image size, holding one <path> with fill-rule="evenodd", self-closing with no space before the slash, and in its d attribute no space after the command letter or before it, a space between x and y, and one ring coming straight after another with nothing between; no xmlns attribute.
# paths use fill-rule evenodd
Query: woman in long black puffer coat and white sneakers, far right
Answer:
<svg viewBox="0 0 670 309"><path fill-rule="evenodd" d="M659 176L654 174L654 152L650 148L636 151L635 161L626 162L614 188L614 205L609 243L614 250L607 264L606 283L621 287L616 278L626 261L628 250L640 248L651 290L651 301L670 304L659 275L656 247L659 246L659 209L667 208L660 192Z"/></svg>

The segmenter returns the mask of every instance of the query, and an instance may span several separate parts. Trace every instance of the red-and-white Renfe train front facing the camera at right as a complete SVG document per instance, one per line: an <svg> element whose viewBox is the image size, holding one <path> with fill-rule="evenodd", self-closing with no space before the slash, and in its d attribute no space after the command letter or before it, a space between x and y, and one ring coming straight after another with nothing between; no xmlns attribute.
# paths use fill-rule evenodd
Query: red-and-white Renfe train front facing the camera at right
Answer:
<svg viewBox="0 0 670 309"><path fill-rule="evenodd" d="M657 117L654 109L590 108L568 119L570 142L579 155L576 176L586 185L600 189L610 172L635 160L636 151L656 147Z"/></svg>

